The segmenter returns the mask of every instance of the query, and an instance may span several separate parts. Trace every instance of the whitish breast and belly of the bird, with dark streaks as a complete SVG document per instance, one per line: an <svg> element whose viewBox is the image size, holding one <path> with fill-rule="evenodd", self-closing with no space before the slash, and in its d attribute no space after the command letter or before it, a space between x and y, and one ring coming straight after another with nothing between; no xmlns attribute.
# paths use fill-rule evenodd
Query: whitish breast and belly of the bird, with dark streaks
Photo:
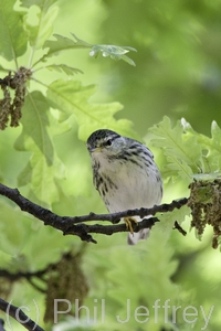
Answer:
<svg viewBox="0 0 221 331"><path fill-rule="evenodd" d="M157 167L140 167L126 160L96 160L94 184L110 213L151 207L161 200Z"/></svg>

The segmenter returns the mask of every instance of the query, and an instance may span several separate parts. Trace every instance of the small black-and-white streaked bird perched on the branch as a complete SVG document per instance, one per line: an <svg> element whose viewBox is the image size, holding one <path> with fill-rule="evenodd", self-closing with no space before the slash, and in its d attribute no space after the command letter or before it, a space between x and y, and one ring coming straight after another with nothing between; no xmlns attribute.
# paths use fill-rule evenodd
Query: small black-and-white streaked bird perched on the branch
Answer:
<svg viewBox="0 0 221 331"><path fill-rule="evenodd" d="M160 204L161 175L154 154L145 145L115 131L99 129L91 134L86 147L92 161L94 186L109 213ZM140 222L139 216L125 217L124 221L129 245L147 238L148 228L133 232L131 223Z"/></svg>

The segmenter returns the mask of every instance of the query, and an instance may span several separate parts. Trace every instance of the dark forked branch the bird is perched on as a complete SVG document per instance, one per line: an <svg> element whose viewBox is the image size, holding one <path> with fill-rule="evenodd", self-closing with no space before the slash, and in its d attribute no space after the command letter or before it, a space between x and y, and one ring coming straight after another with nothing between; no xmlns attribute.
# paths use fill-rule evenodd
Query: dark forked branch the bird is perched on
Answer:
<svg viewBox="0 0 221 331"><path fill-rule="evenodd" d="M154 216L156 213L171 212L175 209L180 209L188 202L187 197L182 197L178 201L173 200L170 204L155 205L151 209L139 209L139 210L128 210L120 213L113 214L94 214L83 216L59 216L51 211L31 202L27 197L20 194L18 189L10 189L3 184L0 184L0 195L7 196L13 201L20 209L34 217L43 221L44 225L50 225L63 232L64 235L72 234L78 236L82 241L92 242L96 244L96 241L92 237L90 233L99 233L105 235L112 235L118 232L127 232L125 224L116 225L120 218L140 216ZM114 225L87 225L83 222L90 221L109 221ZM138 232L141 228L150 228L156 222L159 222L156 217L144 218L138 224L133 224L134 232Z"/></svg>

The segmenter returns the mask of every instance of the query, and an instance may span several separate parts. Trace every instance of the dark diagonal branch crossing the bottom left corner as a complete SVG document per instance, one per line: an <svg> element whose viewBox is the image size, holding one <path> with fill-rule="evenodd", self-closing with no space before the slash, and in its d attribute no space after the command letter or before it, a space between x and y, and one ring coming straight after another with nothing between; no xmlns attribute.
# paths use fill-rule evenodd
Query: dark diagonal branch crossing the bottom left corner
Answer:
<svg viewBox="0 0 221 331"><path fill-rule="evenodd" d="M8 316L11 316L14 320L21 323L25 329L32 331L44 331L34 321L32 321L21 309L15 307L3 299L0 299L0 309L4 311ZM10 325L9 325L10 327Z"/></svg>

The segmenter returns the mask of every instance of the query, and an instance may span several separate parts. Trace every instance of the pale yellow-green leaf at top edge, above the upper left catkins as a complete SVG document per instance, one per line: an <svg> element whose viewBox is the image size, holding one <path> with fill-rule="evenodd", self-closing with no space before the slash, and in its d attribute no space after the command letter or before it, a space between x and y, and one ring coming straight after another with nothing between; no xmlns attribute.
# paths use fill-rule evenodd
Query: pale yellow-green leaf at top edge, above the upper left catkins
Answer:
<svg viewBox="0 0 221 331"><path fill-rule="evenodd" d="M42 0L34 3L39 6L40 12L36 14L38 24L32 25L25 22L25 28L29 33L29 41L31 46L39 50L43 46L44 42L51 36L53 31L53 22L59 13L59 8L53 6L56 0ZM30 7L32 1L23 1L25 7ZM28 17L27 17L28 19Z"/></svg>

